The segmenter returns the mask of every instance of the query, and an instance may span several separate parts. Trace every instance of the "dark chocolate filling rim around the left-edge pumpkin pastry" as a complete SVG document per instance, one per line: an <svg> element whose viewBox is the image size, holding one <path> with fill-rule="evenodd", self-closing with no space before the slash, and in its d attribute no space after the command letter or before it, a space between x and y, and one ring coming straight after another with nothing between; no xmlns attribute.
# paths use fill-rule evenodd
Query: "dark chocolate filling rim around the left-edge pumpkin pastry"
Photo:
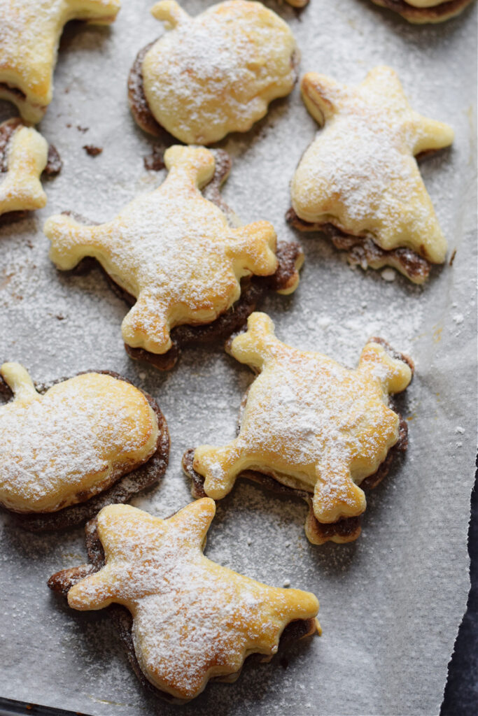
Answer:
<svg viewBox="0 0 478 716"><path fill-rule="evenodd" d="M109 370L97 370L87 371L95 372L104 375L110 375L118 380L124 380L126 383L130 381L118 373L114 373ZM82 375L79 373L78 375ZM59 379L54 383L63 382L66 378ZM39 392L45 392L47 387L37 386ZM140 390L139 388L137 390ZM4 380L0 377L0 392L4 395L11 395L9 387L6 385ZM150 407L158 418L158 440L156 441L156 450L153 455L145 461L145 463L139 463L128 473L124 473L119 470L117 475L113 475L113 484L110 484L102 492L88 496L88 493L77 493L77 497L85 501L75 503L74 505L68 505L56 512L47 513L15 513L7 508L2 508L9 512L14 517L15 521L19 523L21 527L30 532L44 532L50 530L64 529L85 523L95 516L103 507L112 505L114 503L125 503L128 502L136 493L141 490L150 487L154 483L160 480L166 468L168 467L169 458L169 432L166 419L161 412L156 400L148 395L144 391L140 391L145 396Z"/></svg>

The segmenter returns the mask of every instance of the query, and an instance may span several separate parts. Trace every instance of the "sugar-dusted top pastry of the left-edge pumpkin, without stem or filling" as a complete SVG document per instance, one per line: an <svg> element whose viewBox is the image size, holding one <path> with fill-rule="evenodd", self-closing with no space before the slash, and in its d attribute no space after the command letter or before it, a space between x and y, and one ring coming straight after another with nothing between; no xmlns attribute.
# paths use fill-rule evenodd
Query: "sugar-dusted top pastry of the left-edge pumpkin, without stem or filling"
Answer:
<svg viewBox="0 0 478 716"><path fill-rule="evenodd" d="M123 381L87 374L0 408L0 501L53 511L104 488L113 469L152 452L148 404ZM156 428L157 433L157 428Z"/></svg>

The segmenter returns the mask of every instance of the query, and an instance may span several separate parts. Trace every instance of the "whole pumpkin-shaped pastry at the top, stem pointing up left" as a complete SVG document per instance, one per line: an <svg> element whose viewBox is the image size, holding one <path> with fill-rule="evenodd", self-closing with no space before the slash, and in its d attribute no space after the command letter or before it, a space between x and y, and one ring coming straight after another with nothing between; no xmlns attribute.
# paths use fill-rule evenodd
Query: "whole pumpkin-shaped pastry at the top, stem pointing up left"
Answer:
<svg viewBox="0 0 478 716"><path fill-rule="evenodd" d="M163 127L186 144L211 144L247 132L269 102L292 91L295 39L261 3L229 0L192 18L163 0L152 13L169 32L138 54L128 83L146 132Z"/></svg>

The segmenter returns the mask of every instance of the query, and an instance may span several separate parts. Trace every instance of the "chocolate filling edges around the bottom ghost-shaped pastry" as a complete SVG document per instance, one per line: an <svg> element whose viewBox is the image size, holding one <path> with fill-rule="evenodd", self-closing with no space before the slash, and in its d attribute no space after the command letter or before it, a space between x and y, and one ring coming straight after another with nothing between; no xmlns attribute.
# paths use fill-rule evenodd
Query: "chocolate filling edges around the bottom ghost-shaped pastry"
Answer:
<svg viewBox="0 0 478 716"><path fill-rule="evenodd" d="M85 525L85 543L90 563L82 564L81 566L73 567L72 569L64 569L57 572L57 574L53 574L47 582L52 591L67 597L72 586L77 584L77 582L81 579L85 579L85 577L90 574L95 574L95 572L100 571L100 569L105 566L105 552L98 535L96 518L90 520L90 522ZM148 691L171 703L184 703L183 700L177 699L168 692L158 689L158 687L154 686L154 684L152 684L145 677L135 654L132 635L133 616L131 616L130 611L128 611L125 606L121 606L120 604L111 604L107 607L107 612L110 614L111 619L113 619L113 624L115 624L116 629L118 629L118 633L121 642L123 643L123 647L125 648L130 666L138 677L141 685ZM310 636L315 632L315 629L315 619L296 619L295 621L290 621L281 634L279 648L282 650L284 647L288 647L293 642L297 642L303 637ZM244 663L249 661L249 659L251 661L269 661L270 657L267 656L267 654L249 654L249 657L245 659ZM234 674L226 674L223 677L212 677L209 680L232 681L239 676L240 672L241 669Z"/></svg>

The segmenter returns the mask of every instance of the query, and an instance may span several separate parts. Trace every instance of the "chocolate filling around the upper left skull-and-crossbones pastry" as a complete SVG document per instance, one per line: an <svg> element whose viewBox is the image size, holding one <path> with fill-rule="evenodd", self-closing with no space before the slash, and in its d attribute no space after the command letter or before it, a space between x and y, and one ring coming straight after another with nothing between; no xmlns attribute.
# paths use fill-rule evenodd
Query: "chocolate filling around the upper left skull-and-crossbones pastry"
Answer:
<svg viewBox="0 0 478 716"><path fill-rule="evenodd" d="M226 218L230 220L231 217L234 216L234 212L231 211L229 206L222 199L220 188L231 170L231 158L224 150L213 150L213 153L216 170L209 184L202 190L202 193L204 198L216 204L216 206L224 212ZM88 219L72 211L64 211L63 213L67 214L67 216L72 216L75 218L75 221L79 223L90 225L96 223L88 221ZM193 344L204 345L224 341L232 333L239 331L239 329L246 324L247 318L256 309L257 304L259 304L259 301L262 300L267 291L282 291L286 289L287 286L291 285L297 275L296 266L302 263L302 248L299 243L296 241L279 241L275 254L278 261L275 273L272 274L272 276L247 276L241 279L241 295L239 299L214 321L208 324L184 324L171 329L171 342L173 345L166 353L151 353L144 348L133 348L128 346L128 344L125 344L125 351L135 360L144 360L160 370L170 370L178 361L183 347ZM73 269L73 272L83 273L88 271L95 263L99 262L91 257L87 257L78 264L76 269ZM126 301L129 306L134 306L136 303L135 296L132 296L128 291L125 291L125 289L113 281L111 276L107 274L107 271L102 268L101 264L99 265L108 283L115 291L115 294L123 299L123 301Z"/></svg>

